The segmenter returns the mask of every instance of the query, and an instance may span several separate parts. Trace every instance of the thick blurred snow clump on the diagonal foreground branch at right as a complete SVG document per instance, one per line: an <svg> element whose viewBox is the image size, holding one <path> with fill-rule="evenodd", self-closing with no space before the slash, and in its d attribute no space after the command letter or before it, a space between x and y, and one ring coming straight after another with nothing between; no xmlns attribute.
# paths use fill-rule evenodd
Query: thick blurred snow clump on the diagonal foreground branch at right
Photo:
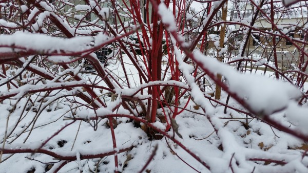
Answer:
<svg viewBox="0 0 308 173"><path fill-rule="evenodd" d="M302 96L300 90L290 83L259 75L241 74L226 64L220 63L212 57L206 57L198 51L194 55L198 61L202 62L204 68L212 73L225 76L229 90L245 100L258 113L257 116L270 115L284 109L290 100L299 99Z"/></svg>

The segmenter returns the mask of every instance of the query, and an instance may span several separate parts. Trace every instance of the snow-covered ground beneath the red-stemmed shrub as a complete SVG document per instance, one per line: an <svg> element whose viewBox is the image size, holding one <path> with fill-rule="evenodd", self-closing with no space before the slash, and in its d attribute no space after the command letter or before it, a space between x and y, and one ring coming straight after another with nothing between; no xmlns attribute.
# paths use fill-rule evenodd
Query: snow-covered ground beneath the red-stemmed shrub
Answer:
<svg viewBox="0 0 308 173"><path fill-rule="evenodd" d="M138 88L140 85L139 80L137 80L138 71L130 64L127 56L123 56L123 58L126 71L130 72L127 75L131 88ZM215 63L213 64L215 65ZM217 67L219 66L217 65ZM112 72L122 79L119 79L120 83L126 82L119 62L109 64L107 69L110 73ZM225 76L233 78L234 76L228 76L232 73L230 71ZM106 85L94 74L84 74L83 77L88 83ZM256 76L252 77L254 79ZM267 80L264 80L264 82L267 82ZM260 91L272 92L271 89L266 89L266 84L264 83L265 90ZM3 86L2 90L6 90L6 86ZM249 93L249 90L253 92L258 89L242 90ZM71 100L73 99L76 99L75 102L82 102L74 96L68 96L52 102L54 98L60 97L62 92L65 91L53 91L55 95L44 98L46 100L43 103L36 101L43 98L43 95L33 95L30 101L26 98L21 100L5 100L0 106L2 112L2 116L0 116L0 133L2 137L5 134L13 133L10 134L4 148L36 149L55 132L72 122L72 120L67 120L67 117L72 115L76 117L95 116L95 112L87 110L86 106L72 103ZM108 91L95 89L95 92L101 92L104 100L107 103L111 102ZM129 91L122 90L121 92ZM260 96L262 94L266 93L251 93L250 95L260 98L256 104L264 104L257 105L256 107L266 107L266 104L271 104L272 107L279 106L277 100L273 100L277 104L269 103L266 100L269 98ZM271 95L271 93L266 95ZM220 101L225 102L226 97L227 95L223 94ZM263 98L265 100L262 103ZM118 97L117 99L120 98ZM117 102L117 99L115 102ZM19 105L24 105L27 101L28 106L25 107L24 111L24 107ZM180 100L180 107L184 106L187 101L187 98L182 98ZM16 107L14 107L15 103ZM186 107L187 110L176 117L176 122L179 125L178 132L182 138L171 129L167 132L171 138L163 137L160 140L149 140L146 133L129 118L117 118L118 125L114 129L117 149L121 150L133 146L127 152L117 155L119 160L118 170L121 172L139 172L157 147L155 155L150 159L151 162L146 167L146 172L308 171L306 168L308 159L303 157L304 151L299 149L303 145L303 141L277 131L277 129L262 122L262 120L249 116L246 117L245 114L234 110L227 109L227 113L224 114L225 107L217 105L215 102L208 101L204 104L208 104L205 106L213 107L213 110L211 110L212 115L205 114L199 106L196 106L196 103L190 100ZM42 109L45 105L46 109ZM233 99L230 99L228 105L242 110L242 106ZM10 114L10 111L13 109L15 111ZM100 114L108 114L110 112L107 109L99 109L97 111ZM127 114L127 111L121 107L116 112L118 114ZM162 109L159 109L158 113L161 112ZM285 112L282 111L275 113L272 117L278 118L286 126L294 127L290 118L285 118L284 114ZM20 122L17 123L17 121ZM212 124L219 131L215 131ZM164 129L166 123L156 122L153 125ZM187 153L175 140L172 140L173 138L205 162L209 169ZM61 156L77 157L77 161L69 162L59 172L114 172L115 169L113 155L98 157L97 159L80 159L80 156L99 155L114 150L111 131L106 118L101 121L76 121L51 138L43 148ZM281 162L271 163L271 160ZM34 170L34 172L53 172L62 163L63 161L50 157L48 154L31 152L14 155L4 154L0 164L0 172L31 172L31 170L32 172ZM50 165L54 166L51 167Z"/></svg>

